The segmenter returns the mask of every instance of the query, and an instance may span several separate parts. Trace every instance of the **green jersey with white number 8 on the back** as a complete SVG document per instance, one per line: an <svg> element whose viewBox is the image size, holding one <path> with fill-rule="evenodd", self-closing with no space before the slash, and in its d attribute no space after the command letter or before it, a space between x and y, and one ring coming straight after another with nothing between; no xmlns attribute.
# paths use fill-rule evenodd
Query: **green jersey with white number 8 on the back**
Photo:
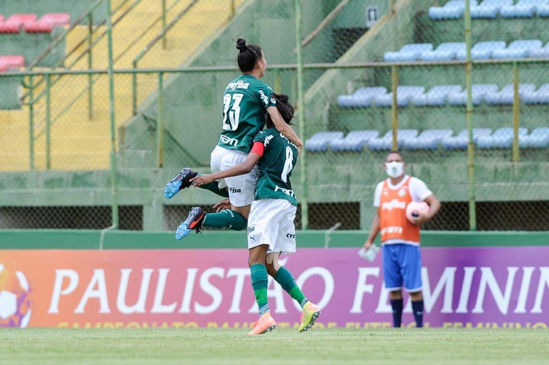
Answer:
<svg viewBox="0 0 549 365"><path fill-rule="evenodd" d="M298 161L297 147L276 128L257 133L254 142L262 142L265 146L263 156L257 162L259 175L255 199L285 199L297 206L290 183L292 169Z"/></svg>

